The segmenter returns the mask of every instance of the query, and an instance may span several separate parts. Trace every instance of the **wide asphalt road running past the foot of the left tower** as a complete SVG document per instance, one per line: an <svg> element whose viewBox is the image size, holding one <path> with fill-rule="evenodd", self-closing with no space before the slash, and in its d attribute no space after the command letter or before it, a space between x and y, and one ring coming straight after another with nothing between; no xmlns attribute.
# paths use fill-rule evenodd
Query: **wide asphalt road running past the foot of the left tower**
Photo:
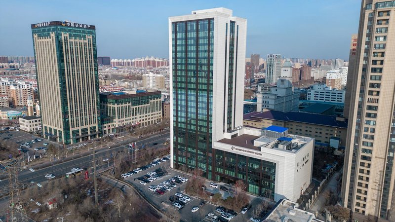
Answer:
<svg viewBox="0 0 395 222"><path fill-rule="evenodd" d="M153 148L158 148L162 146L162 143L165 142L165 139L170 136L170 133L164 133L160 136L152 136L151 138L146 138L142 139L139 141L136 141L137 147L141 148L142 145L152 145L152 143L158 143L158 145L153 146ZM97 169L100 169L102 166L106 167L106 165L112 165L113 162L111 161L111 153L116 151L120 152L124 150L125 152L127 149L128 145L119 145L118 147L113 147L111 149L102 149L99 151L96 151L96 158L97 158ZM144 149L140 149L137 151L137 153L144 151ZM102 161L103 158L109 158L109 163ZM103 165L102 165L103 163ZM72 159L66 162L54 164L49 167L45 167L39 170L36 170L35 172L31 172L29 169L22 170L19 172L18 175L18 180L20 183L30 183L34 182L34 184L37 183L42 183L47 181L47 179L44 177L45 174L53 174L55 177L63 177L67 172L70 172L72 168L74 167L79 167L83 169L88 169L93 166L93 154L83 156L77 159ZM8 185L8 180L2 180L0 182L0 190L3 189Z"/></svg>

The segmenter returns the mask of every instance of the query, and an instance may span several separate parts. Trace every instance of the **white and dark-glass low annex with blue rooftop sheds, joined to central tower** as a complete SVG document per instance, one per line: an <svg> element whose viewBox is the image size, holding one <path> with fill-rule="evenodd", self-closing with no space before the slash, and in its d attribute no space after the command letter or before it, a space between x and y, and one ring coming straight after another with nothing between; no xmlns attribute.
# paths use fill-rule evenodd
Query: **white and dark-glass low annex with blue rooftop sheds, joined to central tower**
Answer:
<svg viewBox="0 0 395 222"><path fill-rule="evenodd" d="M238 127L224 136L213 143L217 181L244 180L247 191L275 201L297 201L311 184L313 138L278 126ZM232 159L238 160L235 167Z"/></svg>

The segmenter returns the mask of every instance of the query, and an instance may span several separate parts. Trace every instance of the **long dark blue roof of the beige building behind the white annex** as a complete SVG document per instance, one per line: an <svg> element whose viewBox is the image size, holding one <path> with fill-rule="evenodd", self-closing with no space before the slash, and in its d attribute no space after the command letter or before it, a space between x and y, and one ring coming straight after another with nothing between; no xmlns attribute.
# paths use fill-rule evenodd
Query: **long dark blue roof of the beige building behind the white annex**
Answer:
<svg viewBox="0 0 395 222"><path fill-rule="evenodd" d="M347 128L347 121L339 121L334 115L322 115L309 112L281 112L281 111L264 111L250 112L243 115L243 119L252 121L261 121L262 119L271 119L277 121L294 121L316 125L325 125L332 127Z"/></svg>

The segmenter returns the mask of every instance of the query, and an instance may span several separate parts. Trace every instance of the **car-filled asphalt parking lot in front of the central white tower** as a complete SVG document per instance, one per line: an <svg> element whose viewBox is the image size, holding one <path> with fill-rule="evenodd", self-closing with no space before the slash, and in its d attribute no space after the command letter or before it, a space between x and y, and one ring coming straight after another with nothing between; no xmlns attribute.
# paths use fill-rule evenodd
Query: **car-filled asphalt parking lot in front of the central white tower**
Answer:
<svg viewBox="0 0 395 222"><path fill-rule="evenodd" d="M202 201L201 199L190 196L185 193L184 189L187 184L186 182L180 183L180 184L173 182L173 184L175 184L176 187L171 188L171 190L164 189L165 192L163 194L159 194L156 191L149 190L150 186L158 186L159 184L161 184L165 181L168 181L171 178L175 178L175 176L177 176L177 175L179 175L180 177L186 177L182 173L170 169L169 165L170 165L170 161L162 162L157 166L151 167L151 168L146 169L142 172L134 174L130 177L125 178L124 180L128 181L129 183L132 183L136 188L138 188L141 191L141 193L151 203L155 204L159 209L165 210L165 211L168 209L178 210L180 213L180 216L181 216L180 221L183 221L183 222L213 222L214 220L211 220L209 217L207 217L207 215L209 213L215 215L215 217L217 217L217 218L220 218L221 214L216 211L218 206L211 204L210 202L205 202L205 204L203 206L200 206L200 203ZM146 185L140 184L141 181L138 180L137 178L141 178L144 175L147 175L147 173L156 171L159 168L160 168L160 171L166 172L162 177L160 177L159 179L156 179L153 182L147 183ZM207 191L210 191L212 193L220 192L223 195L223 197L232 195L229 192L220 190L219 188L210 187L209 184L210 184L209 181L205 182L205 185L207 186L207 189L206 189ZM231 187L229 187L229 188L231 188ZM190 198L189 201L186 201L183 204L181 209L173 206L173 203L175 203L175 202L180 203L179 201L176 201L176 200L170 201L169 200L169 198L174 198L176 193L181 193L182 196L188 196ZM261 199L259 199L259 198L252 198L252 199L253 200L252 200L251 204L258 205L261 201ZM192 212L192 209L194 207L199 208L195 213ZM248 210L245 214L241 214L240 212L237 212L237 216L235 216L232 221L234 221L234 222L249 221L249 219L252 217L252 210L253 210L253 208Z"/></svg>

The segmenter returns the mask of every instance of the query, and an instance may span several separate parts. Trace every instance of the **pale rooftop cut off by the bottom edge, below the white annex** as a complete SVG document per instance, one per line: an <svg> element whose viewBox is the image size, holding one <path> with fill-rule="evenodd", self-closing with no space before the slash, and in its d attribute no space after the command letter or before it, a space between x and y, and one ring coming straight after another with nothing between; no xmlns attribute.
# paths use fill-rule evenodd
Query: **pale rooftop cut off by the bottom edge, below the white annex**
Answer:
<svg viewBox="0 0 395 222"><path fill-rule="evenodd" d="M298 209L299 205L287 199L280 199L264 218L263 222L323 222L313 213Z"/></svg>

